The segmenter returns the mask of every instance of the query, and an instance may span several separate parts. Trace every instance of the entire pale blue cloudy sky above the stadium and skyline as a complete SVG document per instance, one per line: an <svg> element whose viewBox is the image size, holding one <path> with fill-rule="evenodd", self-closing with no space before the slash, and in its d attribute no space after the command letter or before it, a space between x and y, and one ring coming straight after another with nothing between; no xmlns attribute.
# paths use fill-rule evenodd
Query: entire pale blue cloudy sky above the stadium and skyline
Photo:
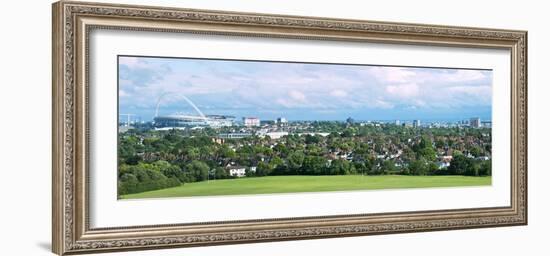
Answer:
<svg viewBox="0 0 550 256"><path fill-rule="evenodd" d="M119 111L289 120L491 118L492 72L366 65L119 57Z"/></svg>

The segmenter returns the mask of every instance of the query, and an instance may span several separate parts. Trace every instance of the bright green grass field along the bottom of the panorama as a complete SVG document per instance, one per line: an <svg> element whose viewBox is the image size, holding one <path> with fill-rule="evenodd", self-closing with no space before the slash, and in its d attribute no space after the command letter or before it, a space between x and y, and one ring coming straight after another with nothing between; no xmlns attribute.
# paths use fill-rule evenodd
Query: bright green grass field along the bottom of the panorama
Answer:
<svg viewBox="0 0 550 256"><path fill-rule="evenodd" d="M491 185L491 177L399 175L269 176L186 183L179 187L123 195L121 198L139 199L486 185Z"/></svg>

